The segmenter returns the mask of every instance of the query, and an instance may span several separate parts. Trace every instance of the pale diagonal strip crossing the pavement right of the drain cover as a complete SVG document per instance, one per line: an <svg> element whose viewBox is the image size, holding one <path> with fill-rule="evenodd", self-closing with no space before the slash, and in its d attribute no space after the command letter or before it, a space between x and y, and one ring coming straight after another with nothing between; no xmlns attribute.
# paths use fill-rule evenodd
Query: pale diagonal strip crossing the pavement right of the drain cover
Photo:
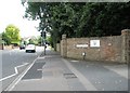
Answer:
<svg viewBox="0 0 130 93"><path fill-rule="evenodd" d="M73 65L70 65L66 59L63 58L63 62L67 65L67 67L77 76L79 81L83 84L87 91L96 91L96 88L81 74L79 72Z"/></svg>

